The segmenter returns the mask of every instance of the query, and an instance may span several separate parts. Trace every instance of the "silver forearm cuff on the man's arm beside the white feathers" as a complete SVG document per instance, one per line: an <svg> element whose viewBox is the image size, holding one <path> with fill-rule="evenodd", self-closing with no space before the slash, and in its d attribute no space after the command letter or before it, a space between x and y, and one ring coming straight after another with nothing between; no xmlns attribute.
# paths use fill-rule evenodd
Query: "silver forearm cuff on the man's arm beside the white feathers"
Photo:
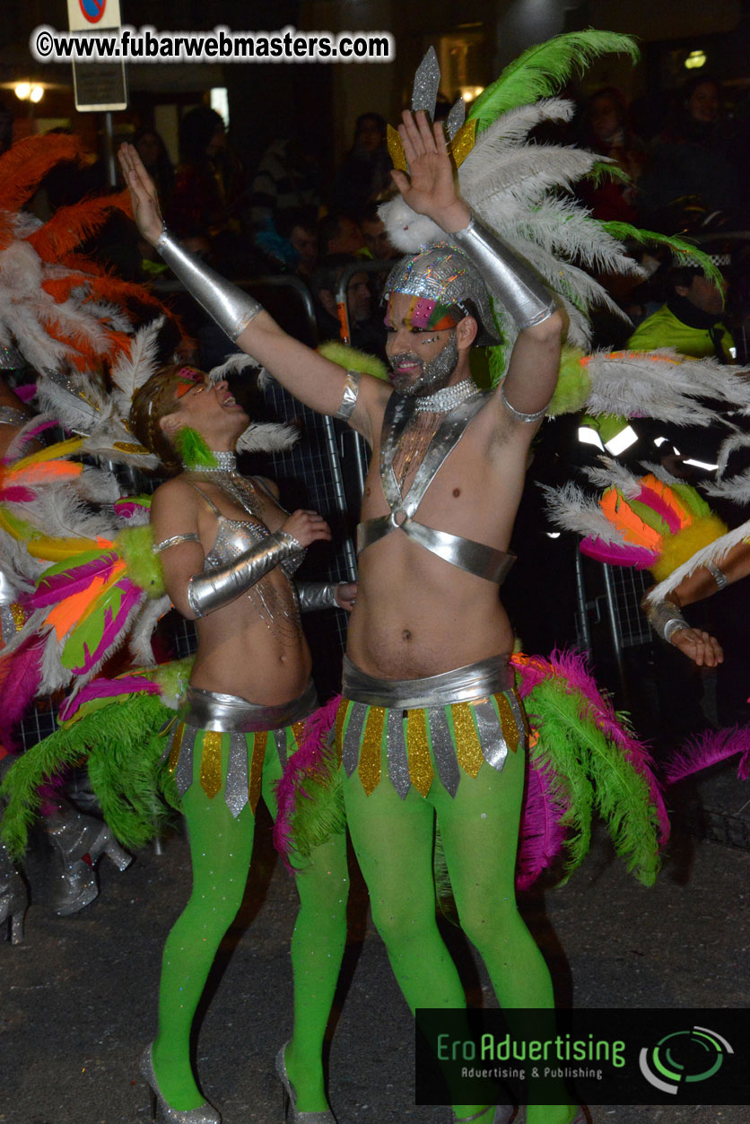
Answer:
<svg viewBox="0 0 750 1124"><path fill-rule="evenodd" d="M555 311L554 297L531 265L473 216L469 226L449 238L477 266L491 296L521 329L541 324Z"/></svg>

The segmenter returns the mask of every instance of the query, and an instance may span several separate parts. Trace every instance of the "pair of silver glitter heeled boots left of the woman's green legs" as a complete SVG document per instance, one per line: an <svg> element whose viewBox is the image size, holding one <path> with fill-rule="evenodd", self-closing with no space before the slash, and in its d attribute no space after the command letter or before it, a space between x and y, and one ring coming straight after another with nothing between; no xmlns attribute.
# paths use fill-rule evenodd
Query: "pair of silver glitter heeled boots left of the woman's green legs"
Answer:
<svg viewBox="0 0 750 1124"><path fill-rule="evenodd" d="M54 905L61 917L85 908L98 896L99 885L93 868L102 854L111 859L120 871L133 861L103 821L74 812L67 804L61 805L46 818L45 827L62 868ZM87 854L91 864L83 858Z"/></svg>

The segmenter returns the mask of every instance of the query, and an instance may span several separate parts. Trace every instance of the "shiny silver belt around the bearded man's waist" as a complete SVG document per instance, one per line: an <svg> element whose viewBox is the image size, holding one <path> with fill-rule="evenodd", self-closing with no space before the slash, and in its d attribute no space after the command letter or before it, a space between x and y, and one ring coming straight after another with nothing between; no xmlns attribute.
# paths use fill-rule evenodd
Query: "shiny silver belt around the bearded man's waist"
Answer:
<svg viewBox="0 0 750 1124"><path fill-rule="evenodd" d="M423 679L376 679L344 656L342 695L353 703L400 710L470 703L514 686L514 676L505 655L468 663Z"/></svg>

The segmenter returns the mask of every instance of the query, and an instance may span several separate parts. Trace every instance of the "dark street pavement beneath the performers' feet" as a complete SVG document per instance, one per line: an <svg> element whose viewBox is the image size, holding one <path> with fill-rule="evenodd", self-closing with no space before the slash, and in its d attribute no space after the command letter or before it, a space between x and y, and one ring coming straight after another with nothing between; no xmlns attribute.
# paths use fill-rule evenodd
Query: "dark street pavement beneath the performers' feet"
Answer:
<svg viewBox="0 0 750 1124"><path fill-rule="evenodd" d="M733 786L739 782L726 781ZM750 800L735 800L738 807ZM26 940L0 943L0 1122L119 1124L151 1120L137 1076L154 1036L161 949L187 899L187 845L139 852L124 873L102 859L101 894L73 917L51 909L49 864L28 862L34 904ZM522 899L550 963L560 1003L584 1007L747 1007L750 1000L750 853L679 826L651 889L629 876L597 834L591 854L559 889ZM197 1061L224 1124L281 1124L273 1073L290 1033L289 936L293 882L277 861L264 814L253 871L200 1013ZM493 1005L484 969L450 933L470 1001ZM413 1027L367 895L353 878L350 943L329 1053L338 1124L449 1124L448 1108L414 1105ZM595 1124L747 1124L741 1107L591 1109Z"/></svg>

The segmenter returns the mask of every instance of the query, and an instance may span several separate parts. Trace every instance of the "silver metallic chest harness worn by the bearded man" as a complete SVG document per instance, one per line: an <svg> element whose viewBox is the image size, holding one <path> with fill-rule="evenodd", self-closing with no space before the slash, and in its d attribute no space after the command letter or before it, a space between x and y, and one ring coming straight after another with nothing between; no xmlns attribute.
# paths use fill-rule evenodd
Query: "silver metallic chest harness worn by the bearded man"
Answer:
<svg viewBox="0 0 750 1124"><path fill-rule="evenodd" d="M379 515L367 519L356 528L358 553L367 550L379 538L392 531L403 531L415 543L442 558L451 565L466 570L477 578L486 578L499 586L515 562L515 554L498 551L485 543L477 543L462 535L453 535L449 531L435 531L417 523L414 518L427 488L442 468L445 459L458 445L466 433L467 426L488 399L487 393L477 393L460 402L445 415L422 464L417 469L414 481L405 496L398 487L394 472L394 455L398 443L416 407L415 399L394 392L388 399L386 415L380 436L380 480L390 508L389 515Z"/></svg>

